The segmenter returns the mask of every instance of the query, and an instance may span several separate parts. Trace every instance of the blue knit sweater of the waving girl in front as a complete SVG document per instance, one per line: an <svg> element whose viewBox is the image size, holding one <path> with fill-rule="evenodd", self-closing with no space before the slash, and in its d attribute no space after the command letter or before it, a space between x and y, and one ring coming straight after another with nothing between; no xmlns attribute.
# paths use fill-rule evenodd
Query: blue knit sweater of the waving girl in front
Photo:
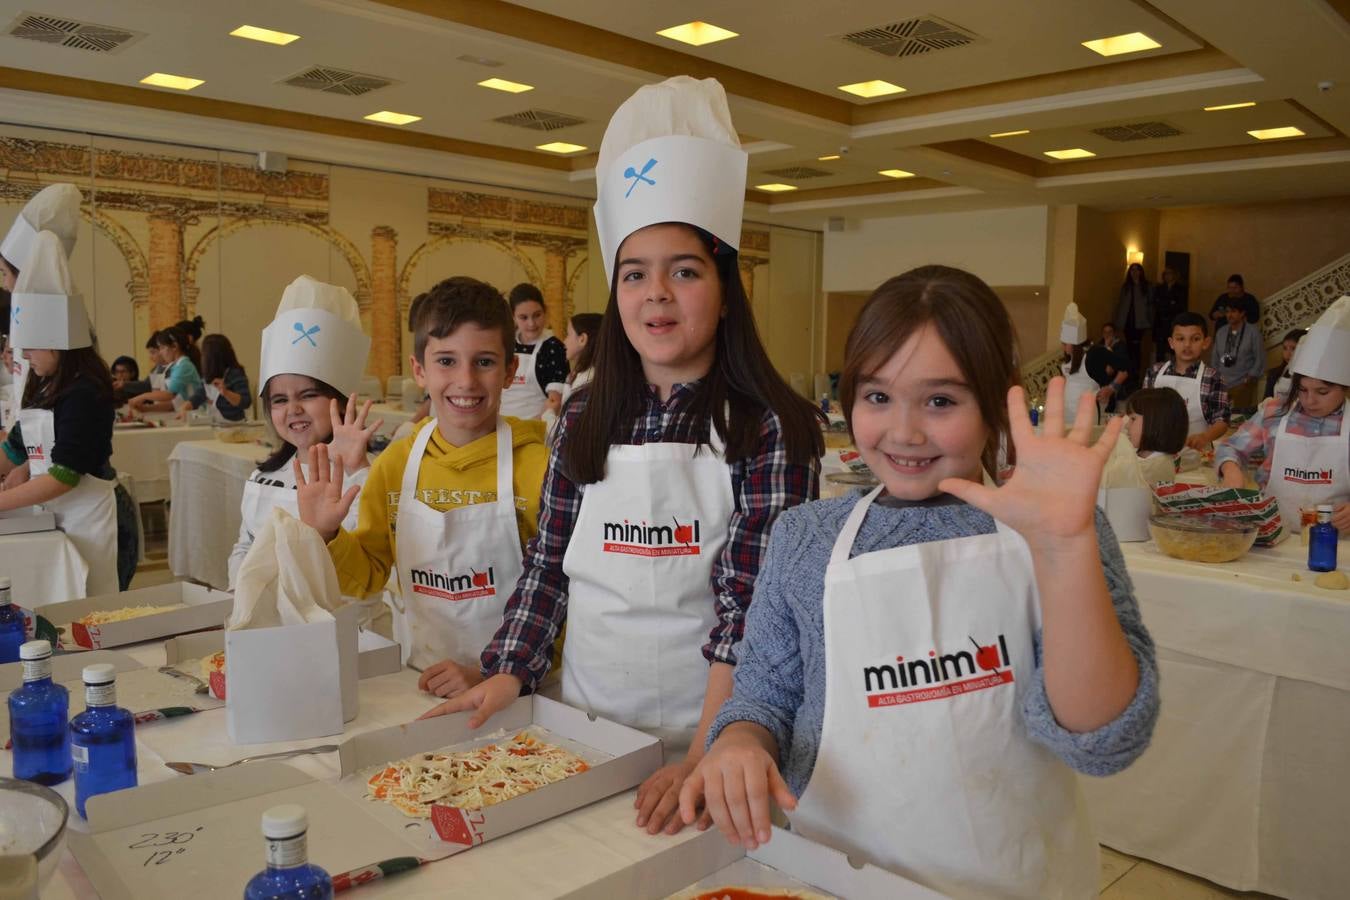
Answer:
<svg viewBox="0 0 1350 900"><path fill-rule="evenodd" d="M775 522L755 584L745 637L736 648L736 688L709 730L711 743L732 722L755 722L768 729L778 741L783 777L798 796L815 768L825 716L825 567L844 521L861 497L855 493L803 503L784 511ZM894 506L879 501L863 519L852 556L994 530L988 514L946 495ZM1022 719L1033 741L1045 745L1073 769L1112 775L1130 765L1149 745L1158 716L1158 668L1120 546L1100 510L1096 530L1115 614L1139 663L1138 691L1114 722L1084 734L1064 730L1054 721L1045 694L1041 634L1037 631L1037 668L1025 695Z"/></svg>

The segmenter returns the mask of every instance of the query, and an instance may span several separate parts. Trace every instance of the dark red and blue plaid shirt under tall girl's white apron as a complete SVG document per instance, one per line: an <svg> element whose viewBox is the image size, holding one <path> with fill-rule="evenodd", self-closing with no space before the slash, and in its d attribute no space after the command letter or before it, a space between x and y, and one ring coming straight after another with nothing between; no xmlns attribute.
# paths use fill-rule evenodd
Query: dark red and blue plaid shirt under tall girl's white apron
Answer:
<svg viewBox="0 0 1350 900"><path fill-rule="evenodd" d="M697 382L676 385L663 403L656 389L648 385L629 441L706 443L711 425L695 421L687 409L695 386ZM585 397L586 391L575 394L558 422L540 495L539 534L525 548L524 576L506 602L497 636L483 650L485 676L514 675L532 688L548 672L549 648L567 618L568 579L563 573L563 555L586 490L563 474L559 448L586 405ZM818 460L809 466L788 461L778 416L770 412L760 425L759 451L747 460L732 463L730 470L736 509L726 546L713 563L717 625L703 645L703 656L709 663L736 665L734 648L745 630L745 611L768 548L770 528L784 509L819 494L821 467Z"/></svg>

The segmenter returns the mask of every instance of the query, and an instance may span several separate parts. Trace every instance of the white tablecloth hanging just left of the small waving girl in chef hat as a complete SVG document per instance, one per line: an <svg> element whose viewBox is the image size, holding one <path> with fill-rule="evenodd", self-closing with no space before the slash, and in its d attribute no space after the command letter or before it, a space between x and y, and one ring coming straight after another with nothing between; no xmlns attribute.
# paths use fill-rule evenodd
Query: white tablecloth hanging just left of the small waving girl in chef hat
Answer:
<svg viewBox="0 0 1350 900"><path fill-rule="evenodd" d="M239 537L244 482L267 456L259 444L192 441L169 456L169 568L211 587L230 587L230 551Z"/></svg>

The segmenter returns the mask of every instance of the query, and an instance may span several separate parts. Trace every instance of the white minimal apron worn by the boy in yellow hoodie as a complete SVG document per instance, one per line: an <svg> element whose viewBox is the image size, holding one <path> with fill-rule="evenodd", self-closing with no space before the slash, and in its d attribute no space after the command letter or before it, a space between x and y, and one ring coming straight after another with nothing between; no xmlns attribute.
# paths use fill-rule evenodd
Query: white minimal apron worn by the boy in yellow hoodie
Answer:
<svg viewBox="0 0 1350 900"><path fill-rule="evenodd" d="M394 640L417 669L447 658L477 667L524 569L512 430L497 420L497 499L444 513L417 498L417 472L435 430L435 418L418 430L398 494Z"/></svg>

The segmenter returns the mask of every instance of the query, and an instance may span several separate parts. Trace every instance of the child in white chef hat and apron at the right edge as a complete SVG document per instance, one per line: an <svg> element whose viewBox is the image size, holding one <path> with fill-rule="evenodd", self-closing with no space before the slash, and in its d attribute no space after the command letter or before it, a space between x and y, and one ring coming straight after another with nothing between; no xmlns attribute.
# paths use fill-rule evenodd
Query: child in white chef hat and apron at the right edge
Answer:
<svg viewBox="0 0 1350 900"><path fill-rule="evenodd" d="M1261 451L1257 484L1280 503L1280 518L1301 529L1301 510L1334 506L1331 521L1350 533L1350 296L1342 297L1308 329L1289 363L1289 397L1265 402L1257 416L1215 449L1215 467L1228 487L1246 483L1245 466Z"/></svg>

